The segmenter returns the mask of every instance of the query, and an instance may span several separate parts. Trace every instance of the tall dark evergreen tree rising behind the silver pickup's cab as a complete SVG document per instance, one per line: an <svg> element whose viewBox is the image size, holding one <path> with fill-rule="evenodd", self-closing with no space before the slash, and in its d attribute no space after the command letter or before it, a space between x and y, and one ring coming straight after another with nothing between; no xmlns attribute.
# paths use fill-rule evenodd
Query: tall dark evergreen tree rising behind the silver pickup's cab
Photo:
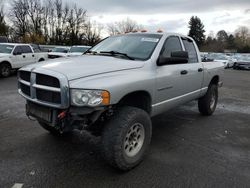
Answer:
<svg viewBox="0 0 250 188"><path fill-rule="evenodd" d="M188 24L190 29L188 36L192 37L200 47L205 41L205 30L203 23L197 16L192 16Z"/></svg>

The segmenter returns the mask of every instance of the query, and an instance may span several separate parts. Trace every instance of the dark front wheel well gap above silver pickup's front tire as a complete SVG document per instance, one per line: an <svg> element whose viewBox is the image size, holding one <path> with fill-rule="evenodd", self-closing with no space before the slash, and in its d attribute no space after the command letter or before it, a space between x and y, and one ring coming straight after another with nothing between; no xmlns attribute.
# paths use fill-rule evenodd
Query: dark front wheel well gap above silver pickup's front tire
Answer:
<svg viewBox="0 0 250 188"><path fill-rule="evenodd" d="M151 112L151 96L146 91L136 91L124 96L118 103L119 106L133 106Z"/></svg>

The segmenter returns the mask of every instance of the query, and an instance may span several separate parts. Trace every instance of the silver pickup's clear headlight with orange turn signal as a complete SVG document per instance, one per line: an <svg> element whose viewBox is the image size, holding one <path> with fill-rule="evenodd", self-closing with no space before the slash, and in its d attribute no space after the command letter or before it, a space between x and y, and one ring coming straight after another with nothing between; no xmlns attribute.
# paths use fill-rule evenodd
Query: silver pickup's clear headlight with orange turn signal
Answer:
<svg viewBox="0 0 250 188"><path fill-rule="evenodd" d="M104 90L71 89L71 104L74 106L109 105L109 92Z"/></svg>

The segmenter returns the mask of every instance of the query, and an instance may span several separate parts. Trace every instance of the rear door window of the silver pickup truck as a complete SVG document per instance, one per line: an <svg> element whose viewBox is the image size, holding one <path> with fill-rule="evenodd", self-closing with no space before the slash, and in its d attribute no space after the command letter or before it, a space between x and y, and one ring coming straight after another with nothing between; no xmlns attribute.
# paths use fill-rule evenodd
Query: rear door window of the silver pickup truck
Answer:
<svg viewBox="0 0 250 188"><path fill-rule="evenodd" d="M186 51L188 52L188 63L198 63L198 56L193 41L182 38L182 42Z"/></svg>

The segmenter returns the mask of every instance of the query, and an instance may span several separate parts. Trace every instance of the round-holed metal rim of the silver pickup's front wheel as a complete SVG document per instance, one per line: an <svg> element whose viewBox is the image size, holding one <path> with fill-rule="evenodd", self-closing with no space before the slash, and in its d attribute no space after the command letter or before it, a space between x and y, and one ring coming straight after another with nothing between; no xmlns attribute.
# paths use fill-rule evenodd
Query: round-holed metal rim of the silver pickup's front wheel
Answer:
<svg viewBox="0 0 250 188"><path fill-rule="evenodd" d="M123 150L128 157L137 155L144 143L145 129L142 124L135 123L128 130L124 139Z"/></svg>

